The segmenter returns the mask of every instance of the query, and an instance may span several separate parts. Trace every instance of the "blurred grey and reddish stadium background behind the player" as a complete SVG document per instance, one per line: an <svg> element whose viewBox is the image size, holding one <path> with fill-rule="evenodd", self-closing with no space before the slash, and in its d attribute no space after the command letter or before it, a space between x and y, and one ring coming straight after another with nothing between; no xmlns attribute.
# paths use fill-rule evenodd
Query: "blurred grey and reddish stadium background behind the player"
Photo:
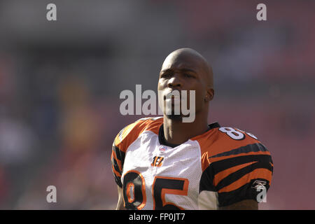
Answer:
<svg viewBox="0 0 315 224"><path fill-rule="evenodd" d="M46 20L48 3L57 22ZM256 20L258 3L267 21ZM214 68L209 122L274 160L260 209L315 209L315 1L0 1L0 209L113 209L123 90L156 90L165 57ZM47 186L57 203L46 202Z"/></svg>

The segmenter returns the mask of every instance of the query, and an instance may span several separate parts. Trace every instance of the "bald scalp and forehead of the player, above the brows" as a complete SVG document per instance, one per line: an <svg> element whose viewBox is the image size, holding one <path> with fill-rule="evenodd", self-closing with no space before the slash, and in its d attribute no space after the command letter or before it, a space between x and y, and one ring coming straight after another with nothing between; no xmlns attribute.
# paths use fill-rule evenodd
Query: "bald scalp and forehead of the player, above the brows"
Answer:
<svg viewBox="0 0 315 224"><path fill-rule="evenodd" d="M214 73L206 59L191 48L180 48L171 52L162 64L161 71L169 69L174 64L185 64L200 69L200 75L209 88L214 87Z"/></svg>

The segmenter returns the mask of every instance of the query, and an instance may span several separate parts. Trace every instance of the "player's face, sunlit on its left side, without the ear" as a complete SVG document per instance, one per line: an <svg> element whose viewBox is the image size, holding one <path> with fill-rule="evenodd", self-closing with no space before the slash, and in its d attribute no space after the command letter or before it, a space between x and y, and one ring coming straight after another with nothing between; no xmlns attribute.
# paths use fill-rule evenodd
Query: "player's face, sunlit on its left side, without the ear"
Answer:
<svg viewBox="0 0 315 224"><path fill-rule="evenodd" d="M207 94L207 84L204 64L194 55L169 55L162 65L158 81L159 104L164 105L166 114L167 94L174 90L187 92L187 108L189 103L195 104L195 113L205 108L204 97ZM195 100L190 101L190 90L195 90ZM181 102L183 97L180 95ZM174 99L172 99L172 114L174 114Z"/></svg>

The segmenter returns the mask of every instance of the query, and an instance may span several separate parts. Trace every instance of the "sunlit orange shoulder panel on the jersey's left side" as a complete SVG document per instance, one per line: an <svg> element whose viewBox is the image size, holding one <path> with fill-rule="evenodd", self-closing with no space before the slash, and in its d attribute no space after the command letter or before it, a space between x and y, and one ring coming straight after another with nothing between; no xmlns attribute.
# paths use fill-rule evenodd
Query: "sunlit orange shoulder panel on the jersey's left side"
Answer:
<svg viewBox="0 0 315 224"><path fill-rule="evenodd" d="M163 117L148 117L136 120L118 132L114 144L121 149L127 148L144 131L151 131L158 134L158 129L162 123Z"/></svg>

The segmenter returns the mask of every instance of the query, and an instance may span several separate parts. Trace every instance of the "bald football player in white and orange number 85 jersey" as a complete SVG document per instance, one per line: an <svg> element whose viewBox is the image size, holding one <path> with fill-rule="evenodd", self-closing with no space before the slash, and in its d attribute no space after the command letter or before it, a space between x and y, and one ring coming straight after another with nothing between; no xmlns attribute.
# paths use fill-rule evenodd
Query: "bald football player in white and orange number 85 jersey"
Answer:
<svg viewBox="0 0 315 224"><path fill-rule="evenodd" d="M253 134L208 124L214 80L190 48L169 54L158 80L159 102L174 90L195 90L195 120L183 113L142 118L113 142L116 209L258 209L272 181L267 148ZM181 96L181 95L180 95ZM188 98L190 95L188 94ZM174 99L172 111L174 112Z"/></svg>

